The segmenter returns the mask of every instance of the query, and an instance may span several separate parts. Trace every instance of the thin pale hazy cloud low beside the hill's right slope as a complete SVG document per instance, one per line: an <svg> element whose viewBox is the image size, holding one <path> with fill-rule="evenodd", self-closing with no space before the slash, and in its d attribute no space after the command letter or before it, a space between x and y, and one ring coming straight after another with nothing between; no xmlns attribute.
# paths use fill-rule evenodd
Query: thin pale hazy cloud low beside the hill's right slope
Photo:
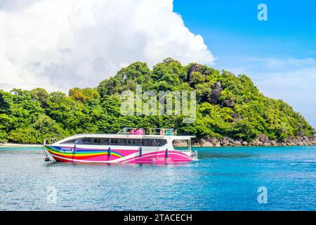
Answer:
<svg viewBox="0 0 316 225"><path fill-rule="evenodd" d="M283 99L316 127L316 58L243 58L231 68L250 75L263 94Z"/></svg>

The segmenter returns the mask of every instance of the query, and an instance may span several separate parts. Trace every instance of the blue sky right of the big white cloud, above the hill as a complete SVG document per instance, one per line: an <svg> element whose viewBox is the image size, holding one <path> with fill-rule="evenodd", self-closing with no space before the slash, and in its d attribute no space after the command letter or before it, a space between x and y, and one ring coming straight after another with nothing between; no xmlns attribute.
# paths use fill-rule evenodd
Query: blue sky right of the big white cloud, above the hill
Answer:
<svg viewBox="0 0 316 225"><path fill-rule="evenodd" d="M257 19L258 4L268 21ZM174 0L185 26L216 57L214 68L249 75L316 127L316 1Z"/></svg>

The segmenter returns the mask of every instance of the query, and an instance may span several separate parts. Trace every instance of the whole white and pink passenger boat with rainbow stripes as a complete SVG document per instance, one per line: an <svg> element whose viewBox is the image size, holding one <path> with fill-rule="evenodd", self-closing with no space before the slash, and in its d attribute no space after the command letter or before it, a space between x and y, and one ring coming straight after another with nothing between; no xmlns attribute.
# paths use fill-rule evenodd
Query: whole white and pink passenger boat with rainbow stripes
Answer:
<svg viewBox="0 0 316 225"><path fill-rule="evenodd" d="M117 134L78 134L44 148L58 162L183 163L197 161L191 149L195 136L177 136L173 129L124 128Z"/></svg>

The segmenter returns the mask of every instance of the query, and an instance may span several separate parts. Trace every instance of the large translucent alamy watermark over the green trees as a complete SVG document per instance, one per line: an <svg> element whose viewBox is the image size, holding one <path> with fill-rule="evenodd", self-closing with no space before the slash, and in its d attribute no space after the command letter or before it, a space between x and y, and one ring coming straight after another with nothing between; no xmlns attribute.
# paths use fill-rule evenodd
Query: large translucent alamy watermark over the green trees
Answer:
<svg viewBox="0 0 316 225"><path fill-rule="evenodd" d="M136 86L136 93L121 93L121 115L182 115L183 123L195 122L197 116L196 91L144 91Z"/></svg>

